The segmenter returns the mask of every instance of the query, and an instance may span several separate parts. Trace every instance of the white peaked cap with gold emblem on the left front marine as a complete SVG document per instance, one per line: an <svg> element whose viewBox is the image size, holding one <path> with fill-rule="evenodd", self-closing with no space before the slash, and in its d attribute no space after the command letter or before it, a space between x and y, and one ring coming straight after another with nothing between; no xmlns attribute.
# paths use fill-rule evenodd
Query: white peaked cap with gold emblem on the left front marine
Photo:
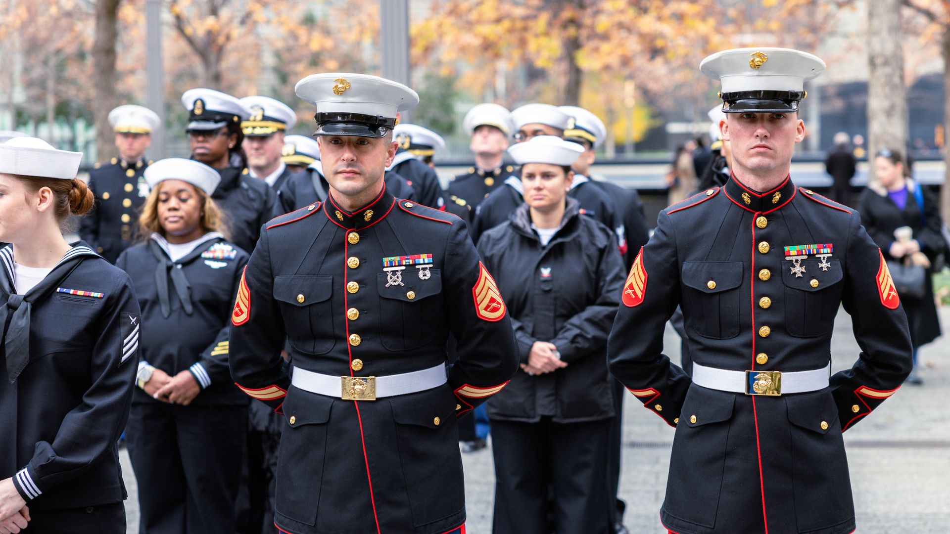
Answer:
<svg viewBox="0 0 950 534"><path fill-rule="evenodd" d="M311 74L295 91L316 106L314 135L381 138L398 124L396 113L419 105L419 95L407 86L352 72Z"/></svg>

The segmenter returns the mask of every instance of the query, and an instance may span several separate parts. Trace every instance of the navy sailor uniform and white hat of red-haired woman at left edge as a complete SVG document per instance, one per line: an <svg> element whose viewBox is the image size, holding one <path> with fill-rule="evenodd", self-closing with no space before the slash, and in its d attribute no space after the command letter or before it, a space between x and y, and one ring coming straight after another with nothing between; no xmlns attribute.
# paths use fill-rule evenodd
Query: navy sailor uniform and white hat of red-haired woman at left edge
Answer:
<svg viewBox="0 0 950 534"><path fill-rule="evenodd" d="M4 174L72 180L81 159L35 138L0 144ZM0 250L0 480L29 507L26 532L123 533L116 444L140 327L131 282L83 241L25 292L16 262L13 245Z"/></svg>

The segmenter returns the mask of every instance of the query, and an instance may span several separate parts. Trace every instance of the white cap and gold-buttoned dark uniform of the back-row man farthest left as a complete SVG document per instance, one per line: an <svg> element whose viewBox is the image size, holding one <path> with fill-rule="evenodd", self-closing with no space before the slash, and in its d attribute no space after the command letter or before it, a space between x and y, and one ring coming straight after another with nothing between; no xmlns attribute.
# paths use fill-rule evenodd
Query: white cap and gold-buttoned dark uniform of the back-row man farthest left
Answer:
<svg viewBox="0 0 950 534"><path fill-rule="evenodd" d="M109 124L118 139L123 135L151 136L161 120L147 107L120 105L109 112ZM149 163L142 153L134 161L120 157L106 164L96 163L89 171L88 185L96 196L96 205L80 220L79 234L110 262L115 262L135 238L133 219L148 196L142 173Z"/></svg>

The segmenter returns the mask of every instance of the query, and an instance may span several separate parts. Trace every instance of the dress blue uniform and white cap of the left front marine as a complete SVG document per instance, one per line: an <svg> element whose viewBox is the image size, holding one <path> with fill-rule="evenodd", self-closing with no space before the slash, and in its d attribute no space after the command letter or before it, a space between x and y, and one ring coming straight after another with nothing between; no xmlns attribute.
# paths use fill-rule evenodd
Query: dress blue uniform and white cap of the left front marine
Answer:
<svg viewBox="0 0 950 534"><path fill-rule="evenodd" d="M296 91L316 105L326 143L385 138L397 110L418 102L409 87L363 74L314 74ZM358 210L332 190L270 221L238 288L232 375L286 421L284 532L461 531L456 417L517 369L504 301L465 223L394 198L382 169L378 180ZM460 355L447 369L449 332ZM281 370L285 338L293 379Z"/></svg>

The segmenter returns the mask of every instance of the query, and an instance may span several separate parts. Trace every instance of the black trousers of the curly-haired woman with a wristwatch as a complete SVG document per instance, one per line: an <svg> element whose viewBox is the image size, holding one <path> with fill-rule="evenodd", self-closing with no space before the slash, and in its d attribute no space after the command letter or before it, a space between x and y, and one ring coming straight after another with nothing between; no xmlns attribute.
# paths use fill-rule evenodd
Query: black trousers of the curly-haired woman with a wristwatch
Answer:
<svg viewBox="0 0 950 534"><path fill-rule="evenodd" d="M134 403L125 439L140 534L234 532L246 431L244 406Z"/></svg>

